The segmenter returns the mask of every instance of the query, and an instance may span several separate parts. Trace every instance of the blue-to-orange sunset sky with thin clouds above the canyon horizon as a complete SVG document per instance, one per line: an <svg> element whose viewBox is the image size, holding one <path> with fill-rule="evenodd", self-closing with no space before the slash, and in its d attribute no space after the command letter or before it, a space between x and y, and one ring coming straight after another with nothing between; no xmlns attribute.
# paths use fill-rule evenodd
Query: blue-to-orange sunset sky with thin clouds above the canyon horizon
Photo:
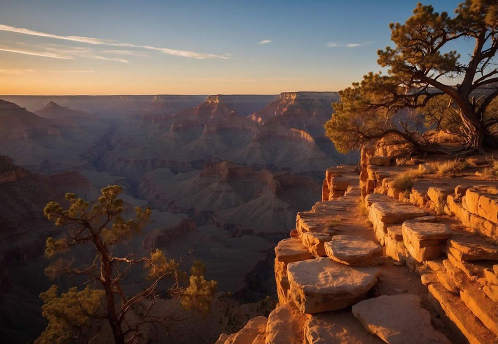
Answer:
<svg viewBox="0 0 498 344"><path fill-rule="evenodd" d="M416 3L0 0L0 94L337 91Z"/></svg>

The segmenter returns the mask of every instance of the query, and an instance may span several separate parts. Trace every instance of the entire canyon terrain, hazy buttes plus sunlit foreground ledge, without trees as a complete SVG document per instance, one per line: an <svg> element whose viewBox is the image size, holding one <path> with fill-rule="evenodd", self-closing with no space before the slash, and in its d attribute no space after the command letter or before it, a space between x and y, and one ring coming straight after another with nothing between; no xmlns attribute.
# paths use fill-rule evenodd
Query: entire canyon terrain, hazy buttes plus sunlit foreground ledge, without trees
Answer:
<svg viewBox="0 0 498 344"><path fill-rule="evenodd" d="M152 221L117 253L201 260L219 283L208 317L178 310L189 320L150 343L497 342L489 158L400 159L383 142L341 155L323 131L336 97L213 95L175 114L148 110L152 98L124 112L1 101L2 338L30 342L46 326L42 253L61 228L43 205L118 184L125 216L150 206ZM458 169L438 172L448 164Z"/></svg>

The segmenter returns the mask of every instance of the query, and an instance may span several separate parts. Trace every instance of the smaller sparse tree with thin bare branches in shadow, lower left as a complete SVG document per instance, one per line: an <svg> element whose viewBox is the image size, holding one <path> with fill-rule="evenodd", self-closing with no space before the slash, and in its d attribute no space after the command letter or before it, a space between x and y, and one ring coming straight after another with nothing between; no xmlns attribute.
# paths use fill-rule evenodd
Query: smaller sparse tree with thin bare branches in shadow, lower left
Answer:
<svg viewBox="0 0 498 344"><path fill-rule="evenodd" d="M58 297L57 287L53 285L40 294L44 301L43 316L49 324L37 343L69 340L86 343L91 319L107 319L116 343L133 343L144 324L171 320L165 310L158 310L159 314L162 311L161 316L153 309L160 292L177 299L185 308L209 311L217 283L204 278L206 268L201 262L194 262L189 278L181 270L180 262L166 258L161 250L155 250L150 257L136 257L132 252L117 254L132 236L141 232L151 216L150 208L137 207L135 217L125 220L123 200L118 198L121 192L117 185L104 187L94 204L68 193L67 208L53 201L44 208L49 220L67 229L58 239L47 238L46 257L61 255L63 258L54 260L45 273L50 277L84 276L87 286L82 291L73 287ZM94 253L93 260L66 258L76 246ZM123 281L137 265L146 269L149 284L140 292L128 295ZM130 323L133 317L127 314L137 308L141 308L140 316Z"/></svg>

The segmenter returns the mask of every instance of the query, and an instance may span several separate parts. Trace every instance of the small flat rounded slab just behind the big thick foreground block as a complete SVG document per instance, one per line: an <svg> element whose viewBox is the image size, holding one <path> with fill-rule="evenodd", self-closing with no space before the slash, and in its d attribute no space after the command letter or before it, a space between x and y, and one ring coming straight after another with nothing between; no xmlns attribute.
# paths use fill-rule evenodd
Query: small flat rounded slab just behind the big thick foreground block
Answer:
<svg viewBox="0 0 498 344"><path fill-rule="evenodd" d="M352 266L372 265L373 257L382 253L380 245L352 235L336 235L324 247L331 259Z"/></svg>

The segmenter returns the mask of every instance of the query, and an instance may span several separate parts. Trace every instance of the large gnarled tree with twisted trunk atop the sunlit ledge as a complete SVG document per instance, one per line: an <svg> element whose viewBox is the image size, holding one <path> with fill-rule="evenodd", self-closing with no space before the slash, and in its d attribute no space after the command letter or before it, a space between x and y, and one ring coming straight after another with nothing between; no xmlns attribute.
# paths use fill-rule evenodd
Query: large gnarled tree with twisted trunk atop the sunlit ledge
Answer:
<svg viewBox="0 0 498 344"><path fill-rule="evenodd" d="M498 0L466 0L454 17L418 3L404 24L390 29L395 47L377 51L387 74L371 72L339 92L325 125L336 148L345 153L386 137L418 152L496 148ZM474 48L451 50L457 41ZM468 62L461 55L470 55ZM428 128L455 135L460 145L438 145L424 134Z"/></svg>

